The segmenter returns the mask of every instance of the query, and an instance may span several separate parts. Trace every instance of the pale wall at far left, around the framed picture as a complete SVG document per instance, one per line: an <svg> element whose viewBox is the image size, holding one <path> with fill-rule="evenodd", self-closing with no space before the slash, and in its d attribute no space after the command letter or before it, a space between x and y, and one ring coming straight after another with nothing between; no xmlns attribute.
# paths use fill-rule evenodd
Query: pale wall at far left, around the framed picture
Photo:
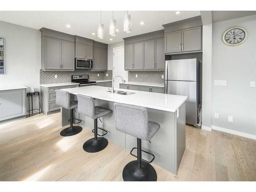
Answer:
<svg viewBox="0 0 256 192"><path fill-rule="evenodd" d="M27 86L38 91L40 31L0 21L0 36L5 37L5 74L0 75L0 86Z"/></svg>

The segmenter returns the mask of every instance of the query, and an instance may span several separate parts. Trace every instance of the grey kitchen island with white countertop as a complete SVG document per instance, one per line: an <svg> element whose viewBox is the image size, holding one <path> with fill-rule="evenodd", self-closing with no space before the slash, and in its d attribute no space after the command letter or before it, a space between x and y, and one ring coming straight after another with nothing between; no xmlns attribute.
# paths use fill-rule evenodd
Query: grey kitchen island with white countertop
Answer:
<svg viewBox="0 0 256 192"><path fill-rule="evenodd" d="M177 175L178 168L185 151L185 101L186 96L167 95L161 93L150 93L142 91L131 91L134 94L120 95L108 92L106 87L90 86L62 89L70 94L86 95L95 99L95 105L114 111L114 102L143 106L147 108L148 120L160 124L160 129L152 138L151 143L142 140L142 149L153 153L155 160L153 163L165 168L169 172ZM127 91L117 89L121 91ZM81 114L75 114L75 117L81 119L80 125L92 130L94 120ZM69 110L61 109L61 125L69 124ZM102 127L108 134L104 137L126 150L131 151L136 146L136 138L115 129L114 113L100 118L98 127ZM135 122L136 123L136 122ZM99 131L99 134L100 131ZM81 146L82 147L82 146ZM100 152L99 152L100 153ZM142 153L143 159L149 159Z"/></svg>

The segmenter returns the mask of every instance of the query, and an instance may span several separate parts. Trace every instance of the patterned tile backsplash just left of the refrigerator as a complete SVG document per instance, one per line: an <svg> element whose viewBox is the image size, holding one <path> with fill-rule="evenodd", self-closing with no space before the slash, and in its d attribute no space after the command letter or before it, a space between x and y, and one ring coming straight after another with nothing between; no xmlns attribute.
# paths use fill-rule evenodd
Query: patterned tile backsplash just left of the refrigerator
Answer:
<svg viewBox="0 0 256 192"><path fill-rule="evenodd" d="M164 83L162 75L164 71L129 71L128 81Z"/></svg>

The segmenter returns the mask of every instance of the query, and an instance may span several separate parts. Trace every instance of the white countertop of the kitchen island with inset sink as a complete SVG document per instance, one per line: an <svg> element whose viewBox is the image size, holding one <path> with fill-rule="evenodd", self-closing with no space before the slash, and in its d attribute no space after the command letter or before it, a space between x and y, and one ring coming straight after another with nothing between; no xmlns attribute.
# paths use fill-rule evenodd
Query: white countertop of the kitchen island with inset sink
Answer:
<svg viewBox="0 0 256 192"><path fill-rule="evenodd" d="M74 95L81 94L93 97L95 99L132 104L137 106L143 106L145 108L151 108L168 112L175 112L187 99L186 96L134 90L129 90L129 92L135 93L132 95L119 95L115 93L112 94L110 92L106 92L108 88L100 86L79 87L62 90L68 91L69 93ZM115 90L127 91L124 89Z"/></svg>

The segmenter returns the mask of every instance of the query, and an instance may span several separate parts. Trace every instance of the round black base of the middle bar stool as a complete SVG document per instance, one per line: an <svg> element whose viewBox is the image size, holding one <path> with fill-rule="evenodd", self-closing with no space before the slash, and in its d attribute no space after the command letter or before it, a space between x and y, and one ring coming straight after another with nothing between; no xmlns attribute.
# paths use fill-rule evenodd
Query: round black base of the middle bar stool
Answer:
<svg viewBox="0 0 256 192"><path fill-rule="evenodd" d="M82 148L88 153L96 153L104 150L108 144L108 139L104 137L91 138L83 144Z"/></svg>

